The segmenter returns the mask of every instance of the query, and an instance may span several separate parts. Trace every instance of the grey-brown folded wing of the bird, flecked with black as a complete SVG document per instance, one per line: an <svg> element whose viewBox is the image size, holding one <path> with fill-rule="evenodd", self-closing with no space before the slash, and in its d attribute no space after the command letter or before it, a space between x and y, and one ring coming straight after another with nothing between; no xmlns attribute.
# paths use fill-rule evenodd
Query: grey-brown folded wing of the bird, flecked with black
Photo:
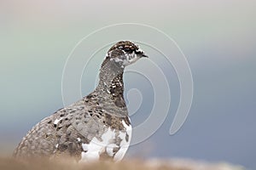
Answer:
<svg viewBox="0 0 256 170"><path fill-rule="evenodd" d="M26 134L15 149L16 157L80 156L82 144L90 143L102 120L85 105L71 105L44 118Z"/></svg>

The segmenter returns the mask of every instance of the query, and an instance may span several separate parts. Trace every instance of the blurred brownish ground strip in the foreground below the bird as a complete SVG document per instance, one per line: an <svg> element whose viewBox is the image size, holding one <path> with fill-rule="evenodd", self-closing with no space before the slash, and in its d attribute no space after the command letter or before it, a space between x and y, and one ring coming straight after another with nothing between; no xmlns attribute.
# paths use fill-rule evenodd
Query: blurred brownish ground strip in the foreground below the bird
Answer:
<svg viewBox="0 0 256 170"><path fill-rule="evenodd" d="M242 170L243 167L231 166L229 164L207 164L196 161L185 160L150 160L150 161L96 161L90 163L77 163L68 159L49 161L45 159L37 159L30 161L20 161L10 157L0 157L1 170Z"/></svg>

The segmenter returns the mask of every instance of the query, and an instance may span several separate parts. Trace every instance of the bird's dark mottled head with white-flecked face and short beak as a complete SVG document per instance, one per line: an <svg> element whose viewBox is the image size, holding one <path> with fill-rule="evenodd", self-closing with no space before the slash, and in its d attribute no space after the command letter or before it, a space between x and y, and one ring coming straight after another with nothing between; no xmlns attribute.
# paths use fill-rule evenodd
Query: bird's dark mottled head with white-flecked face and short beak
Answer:
<svg viewBox="0 0 256 170"><path fill-rule="evenodd" d="M143 50L135 43L130 41L121 41L114 44L108 50L105 62L115 62L115 64L125 68L125 66L131 65L143 57L148 56L144 54Z"/></svg>

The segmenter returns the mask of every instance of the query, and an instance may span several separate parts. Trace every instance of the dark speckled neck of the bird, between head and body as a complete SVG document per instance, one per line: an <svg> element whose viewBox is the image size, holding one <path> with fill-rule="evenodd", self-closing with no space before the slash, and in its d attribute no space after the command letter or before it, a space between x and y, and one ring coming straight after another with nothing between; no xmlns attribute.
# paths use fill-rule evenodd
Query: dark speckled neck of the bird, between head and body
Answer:
<svg viewBox="0 0 256 170"><path fill-rule="evenodd" d="M100 81L96 88L99 96L99 103L104 107L111 107L113 114L127 116L127 108L124 99L124 68L116 65L114 62L103 62L100 71Z"/></svg>

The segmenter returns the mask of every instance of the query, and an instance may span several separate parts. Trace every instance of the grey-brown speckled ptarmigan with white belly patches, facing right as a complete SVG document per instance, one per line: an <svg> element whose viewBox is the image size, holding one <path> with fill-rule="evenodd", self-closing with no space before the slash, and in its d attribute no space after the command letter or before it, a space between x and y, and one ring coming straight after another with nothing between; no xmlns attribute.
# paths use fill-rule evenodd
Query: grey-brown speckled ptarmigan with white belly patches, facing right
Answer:
<svg viewBox="0 0 256 170"><path fill-rule="evenodd" d="M38 122L13 156L65 156L76 161L120 161L131 143L131 120L124 99L125 67L148 58L134 42L116 42L103 59L96 88L77 102Z"/></svg>

